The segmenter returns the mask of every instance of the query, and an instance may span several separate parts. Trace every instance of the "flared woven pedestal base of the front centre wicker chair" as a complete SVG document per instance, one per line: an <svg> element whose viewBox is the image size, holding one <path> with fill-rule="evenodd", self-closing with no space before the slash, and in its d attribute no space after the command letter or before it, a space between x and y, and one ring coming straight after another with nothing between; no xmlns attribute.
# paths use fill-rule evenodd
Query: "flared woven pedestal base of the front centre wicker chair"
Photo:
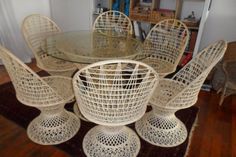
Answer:
<svg viewBox="0 0 236 157"><path fill-rule="evenodd" d="M87 156L137 156L140 140L136 133L126 126L95 126L85 135L83 150Z"/></svg>

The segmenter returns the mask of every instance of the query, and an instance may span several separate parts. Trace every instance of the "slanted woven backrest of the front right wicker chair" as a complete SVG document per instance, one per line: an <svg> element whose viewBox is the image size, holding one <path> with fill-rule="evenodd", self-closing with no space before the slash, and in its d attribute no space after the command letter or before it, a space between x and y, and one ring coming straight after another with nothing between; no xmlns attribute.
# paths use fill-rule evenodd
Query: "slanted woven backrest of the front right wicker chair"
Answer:
<svg viewBox="0 0 236 157"><path fill-rule="evenodd" d="M203 82L211 69L222 59L226 48L227 43L225 41L218 41L198 53L176 73L172 80L174 84L179 84L179 92L166 103L165 107L180 109L194 105ZM157 97L153 98L158 99ZM153 104L155 104L154 99L152 99Z"/></svg>

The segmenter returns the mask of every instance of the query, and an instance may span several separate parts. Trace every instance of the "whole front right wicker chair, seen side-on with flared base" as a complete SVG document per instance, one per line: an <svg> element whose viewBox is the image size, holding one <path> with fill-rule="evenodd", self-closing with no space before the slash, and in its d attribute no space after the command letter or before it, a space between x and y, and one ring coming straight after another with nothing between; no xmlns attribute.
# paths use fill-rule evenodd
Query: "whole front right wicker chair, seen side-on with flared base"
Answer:
<svg viewBox="0 0 236 157"><path fill-rule="evenodd" d="M175 112L194 105L208 73L223 57L227 43L218 41L197 54L172 79L160 80L150 103L153 110L135 123L145 141L162 147L173 147L187 138L184 124Z"/></svg>

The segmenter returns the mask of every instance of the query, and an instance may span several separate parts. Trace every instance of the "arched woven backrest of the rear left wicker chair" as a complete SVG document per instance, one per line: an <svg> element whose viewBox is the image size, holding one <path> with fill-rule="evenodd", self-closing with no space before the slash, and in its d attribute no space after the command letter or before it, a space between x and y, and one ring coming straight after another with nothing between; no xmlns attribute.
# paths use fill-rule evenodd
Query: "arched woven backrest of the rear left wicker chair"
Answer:
<svg viewBox="0 0 236 157"><path fill-rule="evenodd" d="M46 16L32 14L24 19L22 33L28 46L34 53L39 67L44 66L41 60L48 55L42 50L43 40L59 32L61 32L61 29L57 24Z"/></svg>

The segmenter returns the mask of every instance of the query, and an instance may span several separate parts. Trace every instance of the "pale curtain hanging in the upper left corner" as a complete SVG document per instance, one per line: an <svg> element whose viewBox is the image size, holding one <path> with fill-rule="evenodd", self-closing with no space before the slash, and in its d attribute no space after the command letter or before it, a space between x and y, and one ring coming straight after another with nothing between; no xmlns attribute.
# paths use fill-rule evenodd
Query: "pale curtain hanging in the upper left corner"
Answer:
<svg viewBox="0 0 236 157"><path fill-rule="evenodd" d="M32 55L21 34L11 0L0 0L0 44L23 62L31 61Z"/></svg>

